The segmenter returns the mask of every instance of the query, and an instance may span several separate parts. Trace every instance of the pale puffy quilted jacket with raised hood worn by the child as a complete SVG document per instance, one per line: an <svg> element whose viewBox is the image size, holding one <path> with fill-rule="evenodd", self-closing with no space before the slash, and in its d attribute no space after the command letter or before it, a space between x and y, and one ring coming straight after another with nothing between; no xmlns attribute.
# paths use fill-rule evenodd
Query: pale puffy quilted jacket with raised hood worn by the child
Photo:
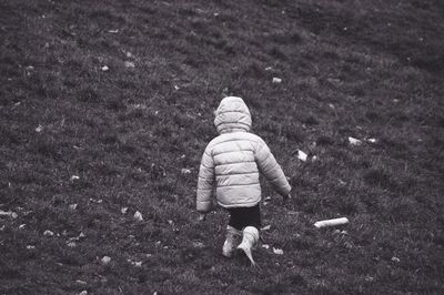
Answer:
<svg viewBox="0 0 444 295"><path fill-rule="evenodd" d="M241 98L223 99L214 124L220 135L208 144L202 156L196 195L199 212L211 210L214 182L218 203L223 207L256 205L261 201L260 173L279 194L290 193L290 184L269 146L249 132L251 115Z"/></svg>

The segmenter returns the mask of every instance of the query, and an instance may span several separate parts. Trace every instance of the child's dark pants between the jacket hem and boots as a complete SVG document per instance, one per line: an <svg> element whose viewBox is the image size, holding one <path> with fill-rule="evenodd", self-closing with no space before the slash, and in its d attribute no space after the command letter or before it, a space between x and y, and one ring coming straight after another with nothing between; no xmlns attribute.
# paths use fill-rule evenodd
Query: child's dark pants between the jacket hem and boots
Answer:
<svg viewBox="0 0 444 295"><path fill-rule="evenodd" d="M242 231L245 226L261 228L261 210L259 204L253 207L231 207L229 225Z"/></svg>

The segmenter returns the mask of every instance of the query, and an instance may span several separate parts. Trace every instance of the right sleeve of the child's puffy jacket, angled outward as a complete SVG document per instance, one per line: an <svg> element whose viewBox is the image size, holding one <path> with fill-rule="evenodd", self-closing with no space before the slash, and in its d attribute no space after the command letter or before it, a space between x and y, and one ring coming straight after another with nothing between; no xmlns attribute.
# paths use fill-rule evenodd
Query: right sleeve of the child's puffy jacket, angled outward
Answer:
<svg viewBox="0 0 444 295"><path fill-rule="evenodd" d="M291 186L286 180L284 172L278 164L269 146L264 141L260 141L258 151L255 153L255 161L259 171L272 184L273 189L282 196L290 193Z"/></svg>

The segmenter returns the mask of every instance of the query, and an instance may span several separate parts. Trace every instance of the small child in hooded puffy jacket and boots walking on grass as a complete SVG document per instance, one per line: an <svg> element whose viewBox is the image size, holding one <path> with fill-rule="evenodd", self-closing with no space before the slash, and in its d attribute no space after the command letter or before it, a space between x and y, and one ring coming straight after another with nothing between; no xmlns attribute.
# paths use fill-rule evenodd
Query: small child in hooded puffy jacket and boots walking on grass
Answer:
<svg viewBox="0 0 444 295"><path fill-rule="evenodd" d="M214 124L220 135L209 143L202 156L196 208L202 214L211 211L215 181L218 204L230 213L222 254L231 257L235 240L243 236L238 248L255 265L251 251L261 227L259 173L284 200L290 197L291 186L265 142L249 133L251 115L241 98L224 98L215 111Z"/></svg>

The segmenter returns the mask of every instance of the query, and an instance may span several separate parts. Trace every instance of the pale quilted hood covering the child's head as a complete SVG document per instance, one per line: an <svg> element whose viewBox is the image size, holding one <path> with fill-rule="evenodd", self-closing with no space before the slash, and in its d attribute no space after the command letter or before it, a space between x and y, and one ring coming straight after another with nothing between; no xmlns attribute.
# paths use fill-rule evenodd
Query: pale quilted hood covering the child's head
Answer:
<svg viewBox="0 0 444 295"><path fill-rule="evenodd" d="M228 132L249 132L251 114L241 98L224 98L215 111L214 125L220 134Z"/></svg>

